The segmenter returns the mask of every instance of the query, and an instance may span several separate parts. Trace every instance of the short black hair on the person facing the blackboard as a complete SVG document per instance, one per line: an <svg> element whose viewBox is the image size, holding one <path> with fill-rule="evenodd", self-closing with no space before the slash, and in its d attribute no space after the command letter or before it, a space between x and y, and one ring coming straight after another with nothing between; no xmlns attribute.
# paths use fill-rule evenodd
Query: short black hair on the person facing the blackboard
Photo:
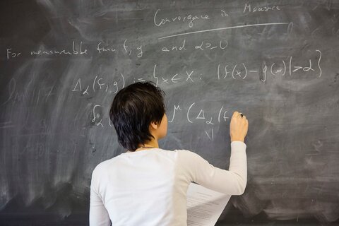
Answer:
<svg viewBox="0 0 339 226"><path fill-rule="evenodd" d="M133 83L117 93L109 117L124 148L134 151L138 145L151 140L150 123L160 124L165 114L164 96L165 93L149 81Z"/></svg>

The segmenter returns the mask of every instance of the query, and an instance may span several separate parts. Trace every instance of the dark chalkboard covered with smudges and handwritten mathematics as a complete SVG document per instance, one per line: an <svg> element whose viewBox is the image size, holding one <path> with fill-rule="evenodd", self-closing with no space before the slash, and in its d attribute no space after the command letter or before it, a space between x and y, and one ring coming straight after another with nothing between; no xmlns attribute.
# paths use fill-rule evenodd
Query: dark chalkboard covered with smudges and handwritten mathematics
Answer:
<svg viewBox="0 0 339 226"><path fill-rule="evenodd" d="M338 1L1 1L0 225L88 224L90 175L136 81L166 93L165 149L227 169L246 114L248 185L218 225L339 218Z"/></svg>

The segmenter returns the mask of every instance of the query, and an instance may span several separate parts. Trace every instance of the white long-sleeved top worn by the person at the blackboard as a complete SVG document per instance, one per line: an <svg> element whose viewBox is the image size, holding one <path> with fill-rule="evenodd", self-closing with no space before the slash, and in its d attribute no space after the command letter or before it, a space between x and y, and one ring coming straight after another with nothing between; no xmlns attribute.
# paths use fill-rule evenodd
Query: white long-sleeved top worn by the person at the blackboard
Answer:
<svg viewBox="0 0 339 226"><path fill-rule="evenodd" d="M230 195L244 193L246 144L231 143L229 170L189 150L153 148L123 153L95 167L90 185L90 226L186 225L191 182Z"/></svg>

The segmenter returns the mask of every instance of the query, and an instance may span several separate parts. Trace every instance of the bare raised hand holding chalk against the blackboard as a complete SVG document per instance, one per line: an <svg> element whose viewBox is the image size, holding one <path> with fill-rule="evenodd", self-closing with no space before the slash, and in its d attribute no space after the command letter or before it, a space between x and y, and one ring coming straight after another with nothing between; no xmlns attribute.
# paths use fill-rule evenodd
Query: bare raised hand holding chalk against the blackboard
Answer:
<svg viewBox="0 0 339 226"><path fill-rule="evenodd" d="M234 112L230 123L231 142L244 142L248 129L249 121L246 119L246 116L239 112Z"/></svg>

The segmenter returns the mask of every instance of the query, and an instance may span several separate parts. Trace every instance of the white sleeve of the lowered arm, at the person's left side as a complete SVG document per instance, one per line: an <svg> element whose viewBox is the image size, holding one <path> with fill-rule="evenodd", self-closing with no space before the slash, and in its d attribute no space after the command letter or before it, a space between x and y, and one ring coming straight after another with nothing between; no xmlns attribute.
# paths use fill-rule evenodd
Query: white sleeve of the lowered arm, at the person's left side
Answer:
<svg viewBox="0 0 339 226"><path fill-rule="evenodd" d="M90 226L109 225L111 225L111 221L109 220L109 215L102 202L102 198L97 192L97 178L94 170L90 183Z"/></svg>

